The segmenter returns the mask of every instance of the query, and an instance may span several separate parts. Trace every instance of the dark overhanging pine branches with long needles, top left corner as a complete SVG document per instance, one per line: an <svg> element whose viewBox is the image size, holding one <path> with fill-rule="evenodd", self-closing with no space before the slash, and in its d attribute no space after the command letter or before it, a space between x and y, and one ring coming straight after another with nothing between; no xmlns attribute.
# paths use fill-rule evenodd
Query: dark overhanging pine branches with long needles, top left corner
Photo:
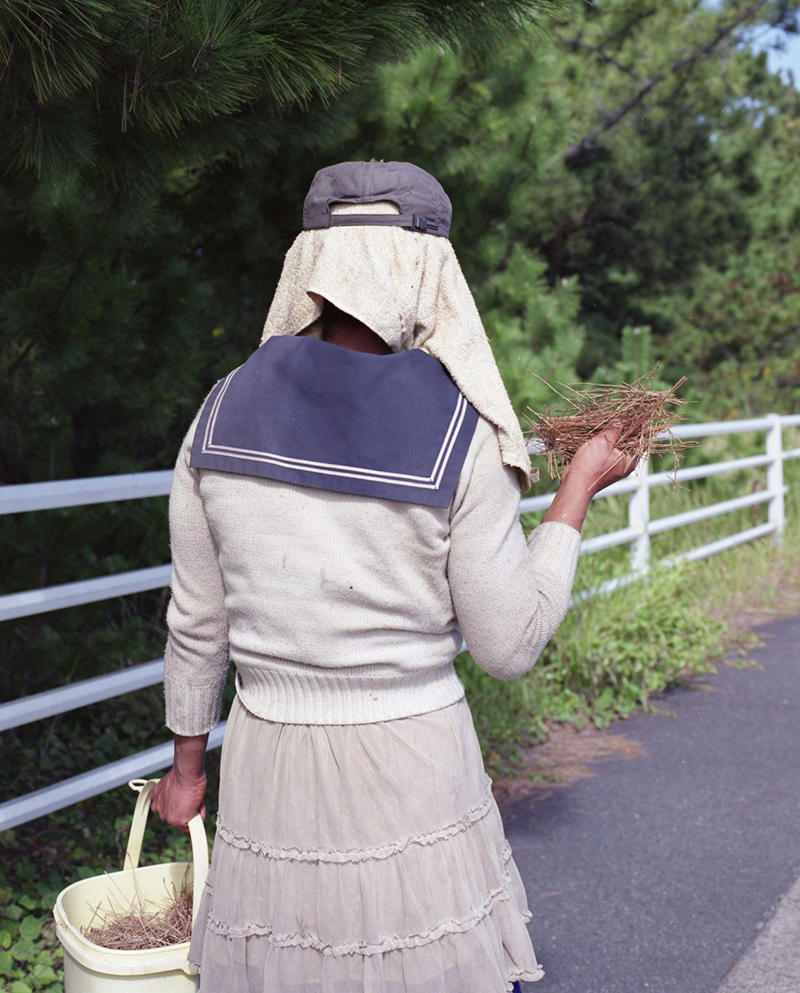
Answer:
<svg viewBox="0 0 800 993"><path fill-rule="evenodd" d="M122 181L131 132L217 153L291 108L329 106L370 68L426 43L485 58L559 0L49 0L0 2L3 171L74 164ZM225 127L213 122L225 118ZM146 146L152 150L151 145ZM178 147L181 147L178 143ZM139 153L139 154L137 154Z"/></svg>

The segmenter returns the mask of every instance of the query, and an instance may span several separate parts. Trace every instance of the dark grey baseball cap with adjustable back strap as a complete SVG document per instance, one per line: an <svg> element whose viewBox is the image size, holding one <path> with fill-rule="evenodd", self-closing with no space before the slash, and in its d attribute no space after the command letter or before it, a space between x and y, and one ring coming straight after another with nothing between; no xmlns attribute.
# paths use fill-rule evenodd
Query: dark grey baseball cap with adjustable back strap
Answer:
<svg viewBox="0 0 800 993"><path fill-rule="evenodd" d="M389 200L399 214L331 214L333 203ZM411 162L338 162L320 169L303 204L303 227L393 225L447 238L453 207L441 184Z"/></svg>

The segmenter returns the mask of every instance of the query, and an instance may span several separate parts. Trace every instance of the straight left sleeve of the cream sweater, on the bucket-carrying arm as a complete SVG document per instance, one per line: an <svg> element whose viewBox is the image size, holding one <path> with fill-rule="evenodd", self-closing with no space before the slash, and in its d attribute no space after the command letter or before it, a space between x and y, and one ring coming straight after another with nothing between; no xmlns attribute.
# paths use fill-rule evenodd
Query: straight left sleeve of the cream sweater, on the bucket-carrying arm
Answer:
<svg viewBox="0 0 800 993"><path fill-rule="evenodd" d="M198 417L181 446L169 495L172 596L164 651L167 727L205 734L219 722L228 673L228 616L217 549L203 510L200 479L189 466Z"/></svg>

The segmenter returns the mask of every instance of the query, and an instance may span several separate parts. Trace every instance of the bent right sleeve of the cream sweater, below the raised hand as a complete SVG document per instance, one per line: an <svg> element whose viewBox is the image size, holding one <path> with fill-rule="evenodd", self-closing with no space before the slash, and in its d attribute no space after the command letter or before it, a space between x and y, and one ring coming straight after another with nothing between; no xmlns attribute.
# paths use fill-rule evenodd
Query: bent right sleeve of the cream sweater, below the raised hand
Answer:
<svg viewBox="0 0 800 993"><path fill-rule="evenodd" d="M477 664L498 679L532 668L569 607L580 532L548 521L528 538L515 471L480 418L453 497L448 581Z"/></svg>

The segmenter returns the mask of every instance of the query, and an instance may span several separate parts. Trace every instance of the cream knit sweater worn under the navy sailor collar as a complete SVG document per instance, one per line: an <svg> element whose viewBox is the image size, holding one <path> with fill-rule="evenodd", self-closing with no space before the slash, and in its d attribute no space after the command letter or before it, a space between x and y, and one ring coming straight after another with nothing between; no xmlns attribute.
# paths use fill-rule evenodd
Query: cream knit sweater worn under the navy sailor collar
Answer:
<svg viewBox="0 0 800 993"><path fill-rule="evenodd" d="M449 507L192 469L169 504L167 726L219 721L229 659L242 703L290 724L360 724L464 694L462 634L499 679L527 672L567 611L580 533L526 540L519 484L480 418Z"/></svg>

